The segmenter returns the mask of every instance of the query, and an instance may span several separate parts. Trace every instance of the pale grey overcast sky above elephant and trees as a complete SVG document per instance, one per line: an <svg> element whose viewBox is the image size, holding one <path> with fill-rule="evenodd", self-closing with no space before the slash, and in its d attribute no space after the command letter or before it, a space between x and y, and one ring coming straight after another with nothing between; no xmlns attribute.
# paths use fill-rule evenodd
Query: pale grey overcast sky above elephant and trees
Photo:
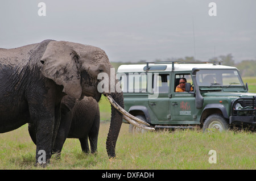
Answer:
<svg viewBox="0 0 256 181"><path fill-rule="evenodd" d="M39 2L46 4L46 16L38 15ZM209 15L210 2L216 16ZM110 61L208 61L229 53L236 61L256 60L256 1L1 1L0 48L45 39L100 47Z"/></svg>

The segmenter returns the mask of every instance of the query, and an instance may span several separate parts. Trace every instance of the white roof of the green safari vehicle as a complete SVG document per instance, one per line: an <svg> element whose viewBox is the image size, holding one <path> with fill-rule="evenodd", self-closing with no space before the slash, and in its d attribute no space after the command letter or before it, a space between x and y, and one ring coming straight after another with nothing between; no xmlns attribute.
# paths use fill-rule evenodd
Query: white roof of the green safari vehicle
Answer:
<svg viewBox="0 0 256 181"><path fill-rule="evenodd" d="M172 71L172 64L148 64L148 66L167 66L165 70L157 70L157 71ZM146 72L144 67L147 64L129 64L129 65L121 65L119 66L117 72L118 73L127 73L127 72ZM218 65L212 63L204 63L204 64L174 64L174 71L192 71L193 68L199 69L237 69L233 66L225 66Z"/></svg>

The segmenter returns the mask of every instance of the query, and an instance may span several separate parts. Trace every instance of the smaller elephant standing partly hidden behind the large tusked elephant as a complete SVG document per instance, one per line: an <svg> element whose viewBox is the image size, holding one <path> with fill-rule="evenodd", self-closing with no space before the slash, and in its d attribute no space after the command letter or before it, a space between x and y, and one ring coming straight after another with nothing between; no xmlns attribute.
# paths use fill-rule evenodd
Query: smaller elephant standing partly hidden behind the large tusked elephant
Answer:
<svg viewBox="0 0 256 181"><path fill-rule="evenodd" d="M97 101L92 97L85 96L84 99L78 100L65 95L61 100L61 121L53 153L60 155L66 138L79 138L82 151L96 153L99 129L100 108ZM28 131L36 145L34 124L28 124Z"/></svg>

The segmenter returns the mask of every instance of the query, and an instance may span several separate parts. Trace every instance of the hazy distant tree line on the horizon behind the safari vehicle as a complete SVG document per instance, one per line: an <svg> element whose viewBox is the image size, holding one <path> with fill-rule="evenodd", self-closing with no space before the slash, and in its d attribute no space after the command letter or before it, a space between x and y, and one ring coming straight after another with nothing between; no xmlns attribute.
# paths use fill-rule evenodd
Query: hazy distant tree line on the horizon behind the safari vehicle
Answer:
<svg viewBox="0 0 256 181"><path fill-rule="evenodd" d="M193 56L186 56L184 58L167 58L166 60L156 59L156 62L160 61L179 61L179 62L198 62ZM236 62L231 53L227 55L221 55L218 57L210 58L208 61L221 62L221 65L235 66L240 70L242 77L256 77L256 60L242 60L241 62ZM144 64L146 60L140 60L138 62L112 62L115 70L122 64Z"/></svg>

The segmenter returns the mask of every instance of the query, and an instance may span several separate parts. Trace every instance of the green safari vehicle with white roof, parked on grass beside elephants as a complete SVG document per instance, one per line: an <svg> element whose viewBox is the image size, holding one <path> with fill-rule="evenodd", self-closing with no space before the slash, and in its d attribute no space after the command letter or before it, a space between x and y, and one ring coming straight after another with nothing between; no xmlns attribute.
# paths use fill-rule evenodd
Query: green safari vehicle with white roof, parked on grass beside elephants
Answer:
<svg viewBox="0 0 256 181"><path fill-rule="evenodd" d="M157 128L203 131L255 126L256 94L248 92L237 68L214 62L147 62L117 70L125 110ZM175 92L181 78L184 92ZM192 87L192 89L191 89ZM138 131L130 124L130 131Z"/></svg>

